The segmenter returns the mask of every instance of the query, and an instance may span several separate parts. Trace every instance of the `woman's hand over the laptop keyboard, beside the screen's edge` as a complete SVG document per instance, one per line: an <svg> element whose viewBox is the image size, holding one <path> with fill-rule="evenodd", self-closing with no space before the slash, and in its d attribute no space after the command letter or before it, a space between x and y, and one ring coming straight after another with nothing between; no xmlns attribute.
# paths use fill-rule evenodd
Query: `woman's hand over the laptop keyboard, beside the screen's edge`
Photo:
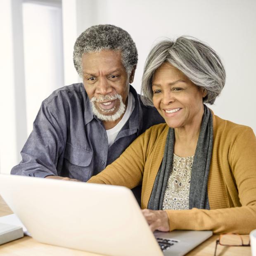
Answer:
<svg viewBox="0 0 256 256"><path fill-rule="evenodd" d="M155 230L167 232L169 228L169 219L166 211L153 211L143 209L142 214L149 224L149 228L154 232Z"/></svg>

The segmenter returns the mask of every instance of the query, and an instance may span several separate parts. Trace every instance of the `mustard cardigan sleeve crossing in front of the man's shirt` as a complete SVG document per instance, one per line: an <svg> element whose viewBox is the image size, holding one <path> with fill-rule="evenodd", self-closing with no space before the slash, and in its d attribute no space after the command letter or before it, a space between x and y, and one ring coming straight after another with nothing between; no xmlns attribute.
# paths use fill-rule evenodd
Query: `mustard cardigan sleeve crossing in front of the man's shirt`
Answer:
<svg viewBox="0 0 256 256"><path fill-rule="evenodd" d="M149 151L148 143L152 128L137 137L133 143L102 172L92 176L89 183L125 186L130 189L142 183L144 166Z"/></svg>

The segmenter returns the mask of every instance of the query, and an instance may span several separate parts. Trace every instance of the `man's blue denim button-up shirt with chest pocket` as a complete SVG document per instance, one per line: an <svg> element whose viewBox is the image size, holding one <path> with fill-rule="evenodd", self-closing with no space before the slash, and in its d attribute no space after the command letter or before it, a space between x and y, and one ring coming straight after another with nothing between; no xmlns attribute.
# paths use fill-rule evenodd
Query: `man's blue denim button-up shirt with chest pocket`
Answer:
<svg viewBox="0 0 256 256"><path fill-rule="evenodd" d="M130 85L135 108L108 147L103 123L92 114L83 83L65 86L42 102L33 131L21 150L22 161L11 174L58 175L87 181L118 158L136 137L164 119L143 105Z"/></svg>

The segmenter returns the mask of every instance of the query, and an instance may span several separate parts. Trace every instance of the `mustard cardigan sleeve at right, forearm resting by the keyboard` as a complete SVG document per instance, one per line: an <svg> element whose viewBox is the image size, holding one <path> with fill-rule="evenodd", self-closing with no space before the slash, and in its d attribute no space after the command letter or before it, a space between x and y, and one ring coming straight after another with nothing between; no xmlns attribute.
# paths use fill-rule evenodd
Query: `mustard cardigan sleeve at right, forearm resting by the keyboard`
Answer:
<svg viewBox="0 0 256 256"><path fill-rule="evenodd" d="M170 230L249 234L256 229L256 137L251 128L239 131L230 144L227 158L237 188L234 193L238 193L241 206L213 210L167 210Z"/></svg>

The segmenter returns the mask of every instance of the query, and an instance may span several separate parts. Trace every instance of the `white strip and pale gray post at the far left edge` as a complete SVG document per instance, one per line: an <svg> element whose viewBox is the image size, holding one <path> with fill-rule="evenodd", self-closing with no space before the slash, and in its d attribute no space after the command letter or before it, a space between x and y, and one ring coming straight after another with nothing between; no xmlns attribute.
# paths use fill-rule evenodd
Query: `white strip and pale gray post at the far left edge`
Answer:
<svg viewBox="0 0 256 256"><path fill-rule="evenodd" d="M26 141L22 0L0 2L0 172L9 173Z"/></svg>

